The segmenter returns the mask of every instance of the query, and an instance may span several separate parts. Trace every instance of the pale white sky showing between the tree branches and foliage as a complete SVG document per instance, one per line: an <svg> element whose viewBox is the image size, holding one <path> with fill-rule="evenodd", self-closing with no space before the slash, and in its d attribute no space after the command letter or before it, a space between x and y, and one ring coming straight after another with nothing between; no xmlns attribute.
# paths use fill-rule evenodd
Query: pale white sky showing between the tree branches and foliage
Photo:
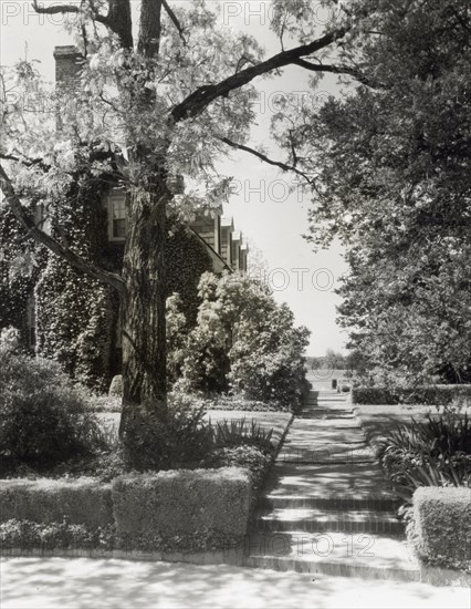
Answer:
<svg viewBox="0 0 471 609"><path fill-rule="evenodd" d="M186 0L179 0L184 2ZM60 3L60 2L52 2ZM67 3L71 3L67 0ZM172 2L175 6L177 2ZM258 38L268 52L280 51L274 34L269 30L269 3L258 0L219 0L221 19L234 29L244 29ZM43 6L51 2L42 2ZM137 8L138 1L134 3ZM38 69L50 81L54 79L54 47L71 44L64 30L65 19L73 16L38 16L31 0L0 0L1 42L0 64L11 65L23 59L41 63ZM318 12L318 20L328 16ZM27 51L25 51L27 50ZM250 145L263 144L273 158L283 161L281 153L270 143L269 125L274 109L275 94L307 91L306 73L299 68L285 69L280 78L258 80L260 112L258 125L253 128ZM337 91L335 81L326 78L321 82L322 97ZM231 195L224 214L232 215L236 228L243 231L253 246L261 250L268 267L266 280L280 302L285 301L294 311L296 322L312 331L308 353L324 354L327 348L344 350L345 332L335 324L335 307L339 298L333 290L337 277L346 270L341 247L313 254L311 246L302 238L307 231L310 200L297 188L291 195L287 187L294 176L282 173L247 153L234 153L230 161L220 163L223 173L233 176L239 194ZM296 270L297 269L297 270Z"/></svg>

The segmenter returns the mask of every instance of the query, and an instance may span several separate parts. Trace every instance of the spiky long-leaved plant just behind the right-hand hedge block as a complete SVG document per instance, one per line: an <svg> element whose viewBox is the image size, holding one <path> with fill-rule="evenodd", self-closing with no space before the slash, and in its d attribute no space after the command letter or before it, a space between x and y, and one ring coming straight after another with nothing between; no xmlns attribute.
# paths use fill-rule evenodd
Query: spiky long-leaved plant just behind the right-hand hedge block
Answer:
<svg viewBox="0 0 471 609"><path fill-rule="evenodd" d="M425 423L412 419L381 441L379 458L393 482L408 495L419 486L471 483L471 422L446 411Z"/></svg>

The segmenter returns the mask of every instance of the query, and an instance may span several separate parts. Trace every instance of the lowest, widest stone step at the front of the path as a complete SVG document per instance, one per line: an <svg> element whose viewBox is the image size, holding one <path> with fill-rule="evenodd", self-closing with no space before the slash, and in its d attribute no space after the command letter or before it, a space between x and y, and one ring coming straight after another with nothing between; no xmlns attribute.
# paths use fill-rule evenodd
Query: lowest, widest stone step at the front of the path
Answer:
<svg viewBox="0 0 471 609"><path fill-rule="evenodd" d="M252 534L244 564L250 567L294 570L344 577L418 581L420 570L405 538L303 530Z"/></svg>

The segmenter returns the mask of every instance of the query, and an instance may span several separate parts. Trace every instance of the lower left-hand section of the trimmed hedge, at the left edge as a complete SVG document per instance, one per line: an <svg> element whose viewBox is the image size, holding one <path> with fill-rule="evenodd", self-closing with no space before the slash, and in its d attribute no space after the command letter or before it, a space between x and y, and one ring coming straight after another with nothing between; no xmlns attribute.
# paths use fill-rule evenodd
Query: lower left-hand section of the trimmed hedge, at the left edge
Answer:
<svg viewBox="0 0 471 609"><path fill-rule="evenodd" d="M61 523L64 518L91 528L113 524L109 484L94 478L2 481L0 522Z"/></svg>

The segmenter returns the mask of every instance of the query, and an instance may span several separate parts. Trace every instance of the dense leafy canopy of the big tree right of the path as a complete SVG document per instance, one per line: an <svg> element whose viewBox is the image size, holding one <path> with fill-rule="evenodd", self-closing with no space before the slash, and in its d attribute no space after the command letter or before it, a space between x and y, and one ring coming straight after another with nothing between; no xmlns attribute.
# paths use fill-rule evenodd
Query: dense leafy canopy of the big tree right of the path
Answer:
<svg viewBox="0 0 471 609"><path fill-rule="evenodd" d="M346 246L339 313L352 345L374 373L469 380L470 7L376 7L346 51L358 86L318 113L280 112L274 128L282 144L291 125L297 157L317 175L307 238Z"/></svg>

